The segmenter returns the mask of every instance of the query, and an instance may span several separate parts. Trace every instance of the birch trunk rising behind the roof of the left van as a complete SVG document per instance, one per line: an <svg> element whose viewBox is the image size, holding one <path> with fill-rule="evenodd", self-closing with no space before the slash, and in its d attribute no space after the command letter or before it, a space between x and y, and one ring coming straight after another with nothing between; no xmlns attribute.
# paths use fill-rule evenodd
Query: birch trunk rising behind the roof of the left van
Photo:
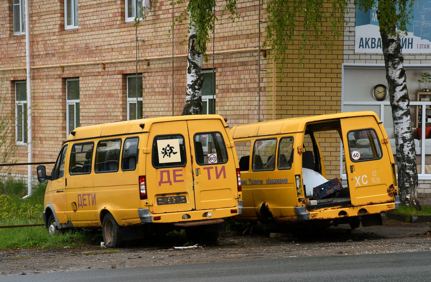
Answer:
<svg viewBox="0 0 431 282"><path fill-rule="evenodd" d="M187 90L182 115L200 114L202 112L202 75L203 53L196 40L196 28L190 18L190 36L187 55Z"/></svg>

